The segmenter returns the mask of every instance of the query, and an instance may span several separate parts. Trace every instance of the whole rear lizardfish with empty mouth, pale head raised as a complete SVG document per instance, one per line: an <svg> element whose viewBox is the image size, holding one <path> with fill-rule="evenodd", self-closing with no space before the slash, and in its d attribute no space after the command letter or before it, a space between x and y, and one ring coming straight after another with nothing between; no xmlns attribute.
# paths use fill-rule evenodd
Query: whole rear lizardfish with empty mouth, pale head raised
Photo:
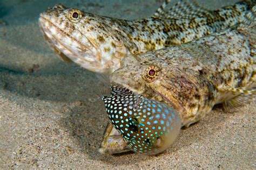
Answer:
<svg viewBox="0 0 256 170"><path fill-rule="evenodd" d="M127 54L178 45L240 23L255 1L206 10L194 1L180 1L166 10L166 0L150 18L124 20L55 5L41 13L39 27L64 61L97 73L112 73Z"/></svg>

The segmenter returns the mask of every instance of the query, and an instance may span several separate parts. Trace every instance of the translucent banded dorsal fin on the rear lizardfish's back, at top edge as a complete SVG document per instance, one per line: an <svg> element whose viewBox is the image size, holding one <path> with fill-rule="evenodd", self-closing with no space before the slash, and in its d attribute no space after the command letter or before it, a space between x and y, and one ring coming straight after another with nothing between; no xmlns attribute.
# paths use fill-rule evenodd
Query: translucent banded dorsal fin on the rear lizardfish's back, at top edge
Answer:
<svg viewBox="0 0 256 170"><path fill-rule="evenodd" d="M170 0L165 0L165 2L158 8L152 17L166 19L188 19L201 18L205 17L206 15L211 15L211 11L201 7L196 0L181 0L166 11L166 5L168 5L170 2Z"/></svg>

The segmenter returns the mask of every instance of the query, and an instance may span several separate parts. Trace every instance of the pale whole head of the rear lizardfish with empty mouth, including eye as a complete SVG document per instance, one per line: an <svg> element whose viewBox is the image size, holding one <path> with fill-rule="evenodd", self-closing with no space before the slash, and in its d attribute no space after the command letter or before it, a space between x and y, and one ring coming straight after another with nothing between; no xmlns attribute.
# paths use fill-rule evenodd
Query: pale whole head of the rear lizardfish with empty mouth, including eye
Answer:
<svg viewBox="0 0 256 170"><path fill-rule="evenodd" d="M112 72L127 53L112 19L55 5L41 13L39 27L64 61L73 61L92 72Z"/></svg>

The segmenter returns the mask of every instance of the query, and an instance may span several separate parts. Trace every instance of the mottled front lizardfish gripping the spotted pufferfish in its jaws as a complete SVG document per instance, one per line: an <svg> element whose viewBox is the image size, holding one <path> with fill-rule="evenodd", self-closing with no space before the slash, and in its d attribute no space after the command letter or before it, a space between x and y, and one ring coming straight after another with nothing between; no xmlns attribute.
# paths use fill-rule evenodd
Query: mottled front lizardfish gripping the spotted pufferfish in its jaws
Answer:
<svg viewBox="0 0 256 170"><path fill-rule="evenodd" d="M110 81L147 100L171 105L180 115L181 126L186 127L204 118L215 104L223 103L230 110L253 102L256 98L255 6L253 11L244 24L211 36L126 56L121 67L110 75ZM122 120L125 121L119 117ZM104 146L102 153L114 153L112 147Z"/></svg>

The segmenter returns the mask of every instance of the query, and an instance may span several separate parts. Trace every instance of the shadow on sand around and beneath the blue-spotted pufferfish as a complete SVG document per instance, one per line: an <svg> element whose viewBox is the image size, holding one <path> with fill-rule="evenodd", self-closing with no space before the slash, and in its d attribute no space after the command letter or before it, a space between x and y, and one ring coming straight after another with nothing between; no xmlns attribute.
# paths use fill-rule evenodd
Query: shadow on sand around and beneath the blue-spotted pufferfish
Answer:
<svg viewBox="0 0 256 170"><path fill-rule="evenodd" d="M85 103L71 107L71 111L67 113L69 116L61 121L62 126L69 132L70 138L75 141L81 154L87 154L92 160L113 165L116 162L119 165L131 164L127 160L136 160L136 164L139 164L140 162L146 162L151 157L164 157L166 154L170 155L170 158L175 158L177 152L183 147L191 147L191 145L197 145L197 143L205 143L207 145L208 139L215 138L215 134L221 132L221 129L223 129L221 126L226 121L226 118L230 116L230 113L224 112L221 106L217 105L200 122L192 124L190 128L182 128L177 141L167 151L158 155L142 155L133 152L103 155L98 152L98 148L103 140L103 132L109 120L105 114L104 106L100 107L100 109L98 108L97 104L100 105L101 103L90 103L87 102L86 107L83 107ZM88 112L92 110L98 111L91 117L88 117L88 115L91 115ZM219 128L216 129L216 127Z"/></svg>

